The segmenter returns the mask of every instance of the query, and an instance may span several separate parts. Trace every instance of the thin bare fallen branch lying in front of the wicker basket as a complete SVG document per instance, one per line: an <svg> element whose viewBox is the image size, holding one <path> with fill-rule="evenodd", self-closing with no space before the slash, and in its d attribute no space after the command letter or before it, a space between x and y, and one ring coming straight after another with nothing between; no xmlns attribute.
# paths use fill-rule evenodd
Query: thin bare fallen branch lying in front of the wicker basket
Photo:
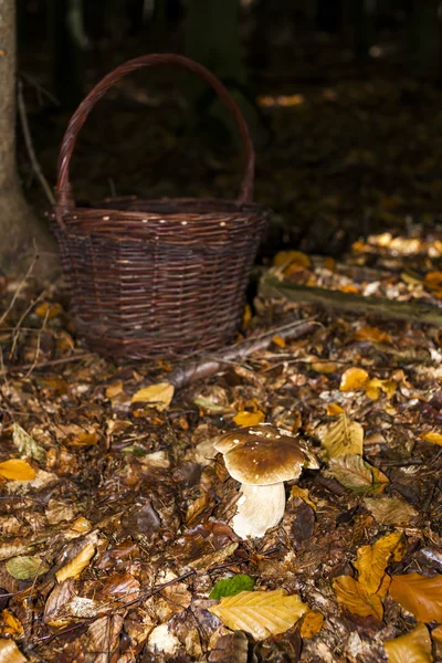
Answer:
<svg viewBox="0 0 442 663"><path fill-rule="evenodd" d="M281 336L284 340L298 338L304 334L312 332L315 325L318 325L314 318L307 318L304 320L295 320L285 325L284 327L272 329L262 336L255 338L248 338L236 345L225 348L220 352L213 355L204 355L196 359L189 359L185 364L177 366L167 376L167 381L173 385L176 389L180 389L197 380L202 380L209 376L218 372L223 368L223 365L238 362L245 359L253 352L259 350L265 350L272 343L274 336Z"/></svg>

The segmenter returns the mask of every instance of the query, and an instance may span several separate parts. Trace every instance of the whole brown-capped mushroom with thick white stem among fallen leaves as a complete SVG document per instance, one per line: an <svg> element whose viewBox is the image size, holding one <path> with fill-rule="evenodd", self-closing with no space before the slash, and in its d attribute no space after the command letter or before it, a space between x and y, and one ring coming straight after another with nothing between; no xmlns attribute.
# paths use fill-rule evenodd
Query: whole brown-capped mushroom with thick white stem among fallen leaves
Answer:
<svg viewBox="0 0 442 663"><path fill-rule="evenodd" d="M284 481L297 478L303 466L318 463L303 441L270 423L236 429L213 444L225 467L241 482L241 497L232 528L241 538L261 537L282 519Z"/></svg>

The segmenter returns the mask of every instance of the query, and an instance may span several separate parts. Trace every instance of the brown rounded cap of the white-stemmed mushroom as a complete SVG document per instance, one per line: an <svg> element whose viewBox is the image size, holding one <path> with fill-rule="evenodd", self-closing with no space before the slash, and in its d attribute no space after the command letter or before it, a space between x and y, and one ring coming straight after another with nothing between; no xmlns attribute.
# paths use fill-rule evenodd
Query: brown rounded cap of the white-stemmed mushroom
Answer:
<svg viewBox="0 0 442 663"><path fill-rule="evenodd" d="M306 461L299 442L272 424L227 433L214 448L224 454L229 474L250 485L297 478Z"/></svg>

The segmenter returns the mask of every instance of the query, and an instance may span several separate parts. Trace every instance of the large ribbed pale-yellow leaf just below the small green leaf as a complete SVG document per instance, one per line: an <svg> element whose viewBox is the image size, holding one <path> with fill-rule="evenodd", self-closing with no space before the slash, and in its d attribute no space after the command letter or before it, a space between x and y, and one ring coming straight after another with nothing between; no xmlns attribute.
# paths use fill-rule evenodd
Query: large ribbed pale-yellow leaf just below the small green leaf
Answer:
<svg viewBox="0 0 442 663"><path fill-rule="evenodd" d="M232 631L245 631L255 640L285 633L306 612L307 606L297 594L284 589L273 591L241 591L224 597L209 608Z"/></svg>

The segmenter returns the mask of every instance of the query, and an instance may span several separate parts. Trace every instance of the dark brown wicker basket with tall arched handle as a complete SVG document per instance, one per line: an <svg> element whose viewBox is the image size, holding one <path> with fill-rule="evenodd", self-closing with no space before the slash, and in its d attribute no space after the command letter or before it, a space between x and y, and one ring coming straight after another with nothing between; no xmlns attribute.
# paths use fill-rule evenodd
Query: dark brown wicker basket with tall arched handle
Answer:
<svg viewBox="0 0 442 663"><path fill-rule="evenodd" d="M245 148L238 201L107 199L77 208L69 167L96 102L122 76L157 64L198 74L232 114ZM225 87L202 65L175 54L136 57L105 76L64 135L53 219L76 326L87 346L115 358L179 357L231 341L270 212L252 202L254 151Z"/></svg>

